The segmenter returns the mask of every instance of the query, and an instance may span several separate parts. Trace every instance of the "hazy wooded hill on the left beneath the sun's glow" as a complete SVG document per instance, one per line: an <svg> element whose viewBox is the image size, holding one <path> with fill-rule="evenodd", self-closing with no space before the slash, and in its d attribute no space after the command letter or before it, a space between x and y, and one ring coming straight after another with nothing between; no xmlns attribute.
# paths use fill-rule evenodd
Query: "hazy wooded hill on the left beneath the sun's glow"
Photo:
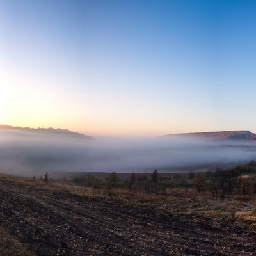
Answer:
<svg viewBox="0 0 256 256"><path fill-rule="evenodd" d="M68 129L54 129L54 128L29 128L29 127L19 127L19 126L11 126L11 125L0 125L0 132L10 131L10 132L26 132L31 134L38 135L49 135L49 136L72 136L77 138L86 138L92 139L90 136L86 136L84 134L78 132L72 132Z"/></svg>

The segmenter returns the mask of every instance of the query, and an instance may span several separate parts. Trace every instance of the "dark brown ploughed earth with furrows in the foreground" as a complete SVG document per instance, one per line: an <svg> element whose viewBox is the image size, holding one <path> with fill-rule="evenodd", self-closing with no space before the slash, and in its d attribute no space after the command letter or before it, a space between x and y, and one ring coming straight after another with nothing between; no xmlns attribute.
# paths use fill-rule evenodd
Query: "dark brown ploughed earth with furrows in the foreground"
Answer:
<svg viewBox="0 0 256 256"><path fill-rule="evenodd" d="M256 255L253 223L189 200L138 204L0 177L0 226L32 255Z"/></svg>

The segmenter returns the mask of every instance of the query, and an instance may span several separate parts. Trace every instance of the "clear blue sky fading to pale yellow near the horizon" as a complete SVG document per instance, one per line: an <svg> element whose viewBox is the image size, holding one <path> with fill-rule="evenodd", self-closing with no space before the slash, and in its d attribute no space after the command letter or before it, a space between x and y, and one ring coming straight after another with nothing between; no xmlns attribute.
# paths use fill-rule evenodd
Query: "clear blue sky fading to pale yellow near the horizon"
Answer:
<svg viewBox="0 0 256 256"><path fill-rule="evenodd" d="M1 0L0 124L256 132L255 13L246 0Z"/></svg>

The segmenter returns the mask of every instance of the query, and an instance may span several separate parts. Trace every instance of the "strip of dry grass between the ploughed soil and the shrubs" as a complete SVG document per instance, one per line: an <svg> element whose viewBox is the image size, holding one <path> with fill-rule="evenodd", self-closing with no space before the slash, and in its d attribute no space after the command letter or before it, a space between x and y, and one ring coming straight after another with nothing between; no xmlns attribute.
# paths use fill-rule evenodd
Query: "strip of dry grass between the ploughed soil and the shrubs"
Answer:
<svg viewBox="0 0 256 256"><path fill-rule="evenodd" d="M161 211L168 213L200 214L210 218L229 218L237 221L250 221L256 225L256 196L231 195L224 200L213 198L212 193L205 193L204 197L196 193L195 189L168 189L166 195L148 194L143 191L129 191L127 189L112 189L108 195L105 189L93 190L76 186L71 182L48 182L42 180L21 179L20 177L3 177L1 179L15 180L36 188L68 191L74 195L90 198L115 200L121 204L154 205Z"/></svg>

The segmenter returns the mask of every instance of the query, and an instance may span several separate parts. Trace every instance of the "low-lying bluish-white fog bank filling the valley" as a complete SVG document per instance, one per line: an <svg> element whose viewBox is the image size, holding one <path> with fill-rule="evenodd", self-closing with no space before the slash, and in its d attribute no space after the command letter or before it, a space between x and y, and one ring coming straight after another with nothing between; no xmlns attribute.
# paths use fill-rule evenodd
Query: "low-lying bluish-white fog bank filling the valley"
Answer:
<svg viewBox="0 0 256 256"><path fill-rule="evenodd" d="M0 132L0 172L189 172L256 159L256 141L95 138Z"/></svg>

